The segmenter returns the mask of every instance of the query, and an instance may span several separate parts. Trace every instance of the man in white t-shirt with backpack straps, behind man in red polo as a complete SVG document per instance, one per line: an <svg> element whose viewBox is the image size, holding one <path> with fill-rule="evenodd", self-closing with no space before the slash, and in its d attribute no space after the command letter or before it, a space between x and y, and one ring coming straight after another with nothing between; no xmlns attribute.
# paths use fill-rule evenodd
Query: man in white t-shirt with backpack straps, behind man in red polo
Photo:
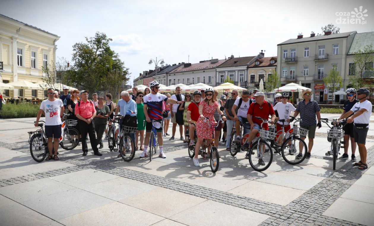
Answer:
<svg viewBox="0 0 374 226"><path fill-rule="evenodd" d="M251 103L252 100L249 97L249 91L243 90L242 97L235 100L233 108L231 109L231 112L234 115L234 120L236 120L235 129L237 143L240 142L240 122L242 122L243 124L243 134L249 133L249 130L251 129L251 126L249 124L246 124L246 122L248 122L247 112Z"/></svg>

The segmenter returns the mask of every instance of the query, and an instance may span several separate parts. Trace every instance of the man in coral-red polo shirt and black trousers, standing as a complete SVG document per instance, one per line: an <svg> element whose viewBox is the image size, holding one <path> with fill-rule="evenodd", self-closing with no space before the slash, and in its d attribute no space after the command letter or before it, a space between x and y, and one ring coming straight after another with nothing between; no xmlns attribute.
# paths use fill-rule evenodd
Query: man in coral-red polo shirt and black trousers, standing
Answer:
<svg viewBox="0 0 374 226"><path fill-rule="evenodd" d="M90 137L90 143L94 155L101 156L97 148L95 125L92 119L96 116L95 105L88 100L88 90L81 90L79 92L80 101L75 105L75 115L78 118L79 132L82 135L82 151L83 156L87 155L88 148L86 143L87 133Z"/></svg>

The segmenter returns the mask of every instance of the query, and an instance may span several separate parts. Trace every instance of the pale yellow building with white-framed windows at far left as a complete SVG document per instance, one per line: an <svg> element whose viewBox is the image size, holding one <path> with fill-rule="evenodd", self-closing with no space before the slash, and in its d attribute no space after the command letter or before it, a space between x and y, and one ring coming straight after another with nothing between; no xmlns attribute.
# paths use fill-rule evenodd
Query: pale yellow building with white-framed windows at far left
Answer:
<svg viewBox="0 0 374 226"><path fill-rule="evenodd" d="M0 14L0 82L42 81L43 70L56 62L59 36ZM4 98L44 98L43 90L14 89L1 91Z"/></svg>

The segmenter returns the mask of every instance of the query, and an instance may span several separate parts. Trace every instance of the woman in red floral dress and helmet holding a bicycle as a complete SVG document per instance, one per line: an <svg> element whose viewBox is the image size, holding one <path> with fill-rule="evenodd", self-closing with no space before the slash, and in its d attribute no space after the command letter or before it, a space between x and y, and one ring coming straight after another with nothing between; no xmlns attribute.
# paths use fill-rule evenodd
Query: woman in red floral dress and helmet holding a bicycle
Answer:
<svg viewBox="0 0 374 226"><path fill-rule="evenodd" d="M222 116L222 119L226 121L226 117L223 115L223 112L220 110L220 106L217 102L213 101L213 89L208 88L205 91L205 99L200 103L199 105L199 114L200 118L197 121L196 124L196 134L197 134L197 142L195 146L195 157L193 158L193 163L195 166L200 166L199 164L199 150L200 146L204 139L210 139L212 140L213 137L213 131L211 130L211 123L215 123L213 113L217 110L220 115ZM204 120L205 118L209 118L209 123L206 123ZM203 155L203 158L206 158L210 154L210 146L208 147L208 153Z"/></svg>

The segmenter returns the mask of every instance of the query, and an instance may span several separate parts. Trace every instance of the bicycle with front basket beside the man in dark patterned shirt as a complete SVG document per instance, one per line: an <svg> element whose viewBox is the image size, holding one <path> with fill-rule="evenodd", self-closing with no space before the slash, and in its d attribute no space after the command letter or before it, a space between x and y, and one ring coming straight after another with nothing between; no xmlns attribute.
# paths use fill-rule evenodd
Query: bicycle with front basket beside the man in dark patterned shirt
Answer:
<svg viewBox="0 0 374 226"><path fill-rule="evenodd" d="M295 121L293 124L292 129L289 129L286 133L284 131L284 123L285 119L278 120L282 123L281 127L282 130L276 132L276 136L274 140L272 140L272 147L275 149L274 153L282 154L284 161L288 164L296 165L304 161L306 158L306 154L308 152L308 148L306 143L303 139L298 137L298 135L306 136L308 134L308 130L300 128L297 126L298 122L301 122L300 118L295 118L290 116L291 121ZM298 142L296 142L298 141ZM280 144L282 142L282 144ZM301 153L302 157L298 158L296 153Z"/></svg>

